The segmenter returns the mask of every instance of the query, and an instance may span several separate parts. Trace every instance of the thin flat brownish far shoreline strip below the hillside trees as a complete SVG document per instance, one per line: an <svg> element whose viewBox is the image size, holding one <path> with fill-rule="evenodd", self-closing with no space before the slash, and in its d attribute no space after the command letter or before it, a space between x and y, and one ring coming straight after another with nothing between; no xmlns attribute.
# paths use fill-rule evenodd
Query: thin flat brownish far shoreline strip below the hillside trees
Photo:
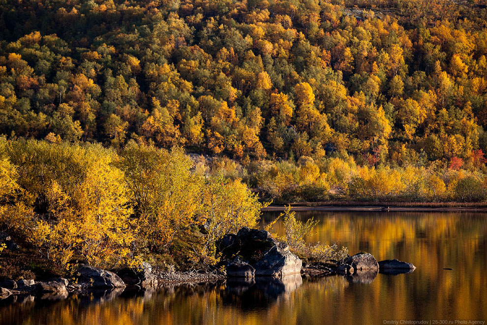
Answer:
<svg viewBox="0 0 487 325"><path fill-rule="evenodd" d="M363 202L330 201L276 204L262 208L262 212L284 211L357 211L357 212L487 212L487 202Z"/></svg>

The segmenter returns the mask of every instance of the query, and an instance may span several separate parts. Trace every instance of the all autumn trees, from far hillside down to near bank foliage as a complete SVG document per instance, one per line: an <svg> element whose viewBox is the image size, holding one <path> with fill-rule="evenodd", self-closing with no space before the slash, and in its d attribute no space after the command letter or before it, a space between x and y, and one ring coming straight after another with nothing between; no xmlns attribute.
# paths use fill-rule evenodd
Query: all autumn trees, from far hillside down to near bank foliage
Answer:
<svg viewBox="0 0 487 325"><path fill-rule="evenodd" d="M212 265L270 202L485 202L486 21L482 0L1 1L1 227L67 271Z"/></svg>

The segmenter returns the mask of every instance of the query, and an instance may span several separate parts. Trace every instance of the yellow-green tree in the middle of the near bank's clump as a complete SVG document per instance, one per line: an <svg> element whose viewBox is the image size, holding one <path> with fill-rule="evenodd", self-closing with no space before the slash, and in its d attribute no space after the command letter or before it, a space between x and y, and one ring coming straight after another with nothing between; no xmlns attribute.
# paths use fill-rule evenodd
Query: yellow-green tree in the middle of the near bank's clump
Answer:
<svg viewBox="0 0 487 325"><path fill-rule="evenodd" d="M136 207L136 233L152 250L166 250L198 224L202 179L182 148L171 151L130 142L118 164Z"/></svg>

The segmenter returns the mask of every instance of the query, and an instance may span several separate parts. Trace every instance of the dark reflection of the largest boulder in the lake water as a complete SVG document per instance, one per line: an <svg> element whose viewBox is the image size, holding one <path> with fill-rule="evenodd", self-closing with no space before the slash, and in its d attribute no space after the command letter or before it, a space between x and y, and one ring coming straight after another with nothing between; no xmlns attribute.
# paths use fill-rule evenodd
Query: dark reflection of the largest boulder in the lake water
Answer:
<svg viewBox="0 0 487 325"><path fill-rule="evenodd" d="M243 309L263 308L278 298L285 298L302 284L303 278L300 274L290 274L282 278L231 278L226 282L222 298L224 303L237 304Z"/></svg>

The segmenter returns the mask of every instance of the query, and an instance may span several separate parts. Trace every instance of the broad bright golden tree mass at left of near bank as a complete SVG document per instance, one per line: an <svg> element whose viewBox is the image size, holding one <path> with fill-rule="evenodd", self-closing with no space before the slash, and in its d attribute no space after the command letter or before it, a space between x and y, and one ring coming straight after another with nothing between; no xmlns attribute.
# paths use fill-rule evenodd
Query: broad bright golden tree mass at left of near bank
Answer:
<svg viewBox="0 0 487 325"><path fill-rule="evenodd" d="M8 153L22 165L19 185L42 203L33 215L30 240L48 259L113 267L128 257L132 210L111 150L28 141L12 143Z"/></svg>

